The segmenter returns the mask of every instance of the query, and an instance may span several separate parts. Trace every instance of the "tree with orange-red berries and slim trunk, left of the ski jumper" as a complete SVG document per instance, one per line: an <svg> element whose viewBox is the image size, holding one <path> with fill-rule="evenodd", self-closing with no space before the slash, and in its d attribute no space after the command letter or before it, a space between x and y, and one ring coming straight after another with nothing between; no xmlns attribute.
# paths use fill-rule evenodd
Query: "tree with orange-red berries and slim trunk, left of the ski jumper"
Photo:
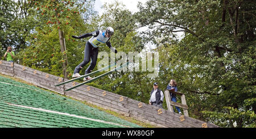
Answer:
<svg viewBox="0 0 256 139"><path fill-rule="evenodd" d="M89 16L85 13L92 8L91 3L49 0L28 1L28 4L28 14L34 18L34 27L37 27L27 37L28 47L22 52L26 55L19 57L20 62L64 78L70 77L74 64L82 57L79 52L83 51L81 47L77 48L81 42L72 39L71 35L86 30L85 21L88 19L82 17ZM38 59L30 60L32 57ZM63 69L62 73L59 69Z"/></svg>

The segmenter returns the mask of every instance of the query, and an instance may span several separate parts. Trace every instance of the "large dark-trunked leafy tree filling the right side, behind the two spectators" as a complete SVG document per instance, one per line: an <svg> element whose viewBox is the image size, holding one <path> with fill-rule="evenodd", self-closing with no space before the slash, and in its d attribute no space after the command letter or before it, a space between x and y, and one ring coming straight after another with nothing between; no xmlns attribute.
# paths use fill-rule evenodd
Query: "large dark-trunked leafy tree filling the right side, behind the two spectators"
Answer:
<svg viewBox="0 0 256 139"><path fill-rule="evenodd" d="M252 1L147 1L134 16L160 46L160 78L176 78L189 115L222 127L255 126ZM184 32L179 40L176 32ZM164 52L166 50L167 52ZM171 76L170 76L171 75ZM236 116L226 116L236 113ZM239 118L238 118L239 117ZM236 122L235 122L236 121Z"/></svg>

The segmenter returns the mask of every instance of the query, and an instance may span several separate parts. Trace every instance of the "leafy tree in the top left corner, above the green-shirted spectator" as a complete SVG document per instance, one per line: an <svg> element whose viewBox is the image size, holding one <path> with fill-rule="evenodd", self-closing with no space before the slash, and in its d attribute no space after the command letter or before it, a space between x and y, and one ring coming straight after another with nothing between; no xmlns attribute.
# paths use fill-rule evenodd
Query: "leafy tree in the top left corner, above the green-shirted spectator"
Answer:
<svg viewBox="0 0 256 139"><path fill-rule="evenodd" d="M29 3L26 1L1 1L1 44L5 53L12 47L16 54L26 48L26 37L34 28L34 18L28 16ZM1 54L2 55L2 54Z"/></svg>

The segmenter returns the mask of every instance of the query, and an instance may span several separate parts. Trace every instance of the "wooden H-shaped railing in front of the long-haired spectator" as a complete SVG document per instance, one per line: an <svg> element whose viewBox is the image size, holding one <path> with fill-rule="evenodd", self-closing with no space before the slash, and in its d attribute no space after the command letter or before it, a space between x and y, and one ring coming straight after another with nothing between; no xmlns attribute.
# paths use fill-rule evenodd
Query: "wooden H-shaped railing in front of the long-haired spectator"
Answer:
<svg viewBox="0 0 256 139"><path fill-rule="evenodd" d="M170 92L172 94L176 94L176 96L179 95L181 98L181 103L172 102ZM169 111L174 112L174 108L172 106L177 106L177 107L183 108L184 115L188 116L188 106L185 99L185 95L183 93L176 92L174 90L164 90L164 96L166 96L166 104Z"/></svg>

